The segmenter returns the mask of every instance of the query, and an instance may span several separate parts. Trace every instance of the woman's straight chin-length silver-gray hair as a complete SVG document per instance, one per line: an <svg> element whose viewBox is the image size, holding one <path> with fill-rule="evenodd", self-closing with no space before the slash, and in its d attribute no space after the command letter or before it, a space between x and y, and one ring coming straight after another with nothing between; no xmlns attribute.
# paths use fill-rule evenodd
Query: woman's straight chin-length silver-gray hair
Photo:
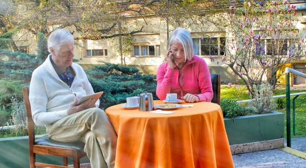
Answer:
<svg viewBox="0 0 306 168"><path fill-rule="evenodd" d="M193 57L193 43L192 38L188 30L179 27L174 30L174 32L171 34L170 38L168 39L168 48L170 47L172 41L178 41L183 45L184 53L185 53L185 62L186 60L191 60Z"/></svg>

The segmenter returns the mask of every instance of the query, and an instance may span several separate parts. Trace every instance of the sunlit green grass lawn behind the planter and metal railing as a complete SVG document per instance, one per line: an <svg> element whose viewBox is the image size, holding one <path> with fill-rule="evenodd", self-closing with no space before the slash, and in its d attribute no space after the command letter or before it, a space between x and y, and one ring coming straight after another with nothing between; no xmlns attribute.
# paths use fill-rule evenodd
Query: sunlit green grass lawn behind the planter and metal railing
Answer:
<svg viewBox="0 0 306 168"><path fill-rule="evenodd" d="M237 86L223 86L221 87L221 100L224 98L232 98L237 101L239 100L248 100L249 95L246 93L246 88L243 86L237 90ZM306 88L303 90L290 90L290 93L301 93L306 92ZM275 94L276 95L285 95L286 90L284 87L281 87L281 89L276 89ZM290 110L291 110L291 138L295 137L301 137L306 136L306 95L300 95L295 99L295 135L293 135L292 131L292 99L294 96L291 96L290 101ZM284 98L285 99L285 98ZM285 100L286 101L286 100ZM276 111L282 112L285 114L285 138L287 137L287 129L286 129L286 107L284 109L277 109Z"/></svg>

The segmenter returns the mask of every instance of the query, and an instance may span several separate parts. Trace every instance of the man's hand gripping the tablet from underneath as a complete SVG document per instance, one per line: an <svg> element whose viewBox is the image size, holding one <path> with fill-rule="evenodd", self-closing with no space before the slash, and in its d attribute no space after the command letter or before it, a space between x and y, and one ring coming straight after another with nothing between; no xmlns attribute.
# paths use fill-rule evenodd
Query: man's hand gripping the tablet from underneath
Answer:
<svg viewBox="0 0 306 168"><path fill-rule="evenodd" d="M88 99L88 100L84 101L83 103L81 103L80 105L77 105L78 100L75 99L74 102L69 105L69 107L67 109L67 113L68 113L68 115L72 115L74 113L78 113L79 111L95 107L95 102L96 102L96 100L94 100L94 99Z"/></svg>

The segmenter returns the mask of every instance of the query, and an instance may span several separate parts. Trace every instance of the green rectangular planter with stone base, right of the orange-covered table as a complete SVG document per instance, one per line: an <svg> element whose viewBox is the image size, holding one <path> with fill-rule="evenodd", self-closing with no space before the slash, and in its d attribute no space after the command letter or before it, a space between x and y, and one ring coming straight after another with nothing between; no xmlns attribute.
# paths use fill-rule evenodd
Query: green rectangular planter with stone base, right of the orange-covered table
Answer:
<svg viewBox="0 0 306 168"><path fill-rule="evenodd" d="M232 147L239 149L234 153L232 149L232 154L284 147L284 122L285 115L277 111L261 115L241 116L234 119L224 118L231 149ZM243 148L250 146L258 149L243 150Z"/></svg>

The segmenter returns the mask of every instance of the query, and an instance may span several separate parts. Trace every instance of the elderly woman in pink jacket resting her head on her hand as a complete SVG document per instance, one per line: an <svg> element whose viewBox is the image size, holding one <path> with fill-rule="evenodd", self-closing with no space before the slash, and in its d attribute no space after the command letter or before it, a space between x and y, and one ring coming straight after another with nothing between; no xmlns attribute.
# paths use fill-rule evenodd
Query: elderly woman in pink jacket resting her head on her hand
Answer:
<svg viewBox="0 0 306 168"><path fill-rule="evenodd" d="M193 55L190 33L183 28L174 30L168 39L166 62L157 71L156 94L161 99L167 93L176 93L186 102L210 102L213 89L206 62Z"/></svg>

